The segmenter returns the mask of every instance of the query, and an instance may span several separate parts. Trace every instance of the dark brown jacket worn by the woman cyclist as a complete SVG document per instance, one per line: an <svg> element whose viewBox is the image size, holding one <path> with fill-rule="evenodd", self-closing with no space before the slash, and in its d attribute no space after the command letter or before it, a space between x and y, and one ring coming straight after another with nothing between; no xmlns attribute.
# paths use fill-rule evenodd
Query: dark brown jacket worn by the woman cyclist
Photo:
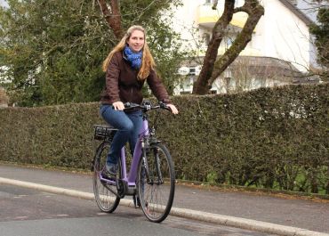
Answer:
<svg viewBox="0 0 329 236"><path fill-rule="evenodd" d="M138 103L143 99L141 88L144 81L137 80L138 70L132 69L123 52L114 53L106 72L106 87L100 94L102 104L113 102ZM160 102L169 103L169 96L155 70L151 70L147 82Z"/></svg>

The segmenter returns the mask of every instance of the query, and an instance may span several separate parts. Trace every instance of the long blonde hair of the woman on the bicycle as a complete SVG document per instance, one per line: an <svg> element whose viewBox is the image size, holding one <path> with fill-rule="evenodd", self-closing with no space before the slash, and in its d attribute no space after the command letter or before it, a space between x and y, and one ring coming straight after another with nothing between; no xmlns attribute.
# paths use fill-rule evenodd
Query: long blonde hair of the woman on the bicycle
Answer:
<svg viewBox="0 0 329 236"><path fill-rule="evenodd" d="M110 53L108 53L108 57L103 61L103 66L102 69L104 72L107 71L108 69L108 64L109 61L111 61L113 54L119 51L124 50L124 46L126 45L126 42L128 39L132 36L132 32L135 30L140 30L141 32L144 33L144 46L143 46L143 57L141 59L141 67L140 71L138 73L138 79L139 80L144 80L148 77L150 70L154 69L156 67L156 62L154 61L152 54L149 51L148 48L148 43L146 40L146 33L145 29L142 28L141 26L132 26L131 28L128 28L127 32L125 33L124 37L120 40L120 42L112 49Z"/></svg>

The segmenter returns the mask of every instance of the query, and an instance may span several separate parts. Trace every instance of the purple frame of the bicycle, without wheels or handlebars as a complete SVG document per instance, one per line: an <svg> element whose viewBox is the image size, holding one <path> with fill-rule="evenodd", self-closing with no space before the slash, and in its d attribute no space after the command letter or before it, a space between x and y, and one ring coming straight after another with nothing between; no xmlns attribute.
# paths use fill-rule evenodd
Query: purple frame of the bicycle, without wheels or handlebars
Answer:
<svg viewBox="0 0 329 236"><path fill-rule="evenodd" d="M127 186L129 188L135 188L136 187L136 178L137 178L137 168L138 165L140 163L140 158L141 158L141 154L142 154L142 141L144 139L144 137L148 136L149 134L149 130L148 130L148 118L146 117L146 115L143 115L143 121L142 121L142 127L141 127L141 131L139 134L139 138L136 142L135 145L135 149L133 151L133 156L132 156L132 165L131 168L129 170L129 173L127 173L127 168L126 168L126 162L125 162L125 151L124 151L124 147L121 150L121 169L122 169L122 177L120 178L121 180L123 180L125 183L127 183ZM108 180L105 179L100 175L100 180L107 182L111 185L116 185L116 181L113 180Z"/></svg>

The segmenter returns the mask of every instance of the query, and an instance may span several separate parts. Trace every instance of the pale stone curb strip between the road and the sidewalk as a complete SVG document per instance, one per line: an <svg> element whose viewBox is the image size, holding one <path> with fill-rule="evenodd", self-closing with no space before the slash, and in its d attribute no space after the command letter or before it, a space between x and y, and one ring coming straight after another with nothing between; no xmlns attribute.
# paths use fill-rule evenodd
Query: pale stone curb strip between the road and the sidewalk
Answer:
<svg viewBox="0 0 329 236"><path fill-rule="evenodd" d="M38 191L47 191L55 194L66 195L70 197L75 197L79 199L89 199L93 200L93 193L85 192L85 191L75 191L68 190L59 187L48 186L39 183L30 183L19 180L7 179L0 177L0 183L11 184L19 187L35 189ZM125 207L134 208L132 200L121 199L120 205ZM171 216L179 216L183 218L189 218L193 220L214 223L214 224L223 224L227 226L233 226L237 228L243 228L247 230L259 231L259 232L269 232L275 233L278 235L286 235L286 236L329 236L329 233L325 232L315 232L309 231L306 229L285 226L280 224L271 224L267 222L261 222L256 220L250 220L240 217L234 216L223 216L218 214L212 214L197 210L191 210L186 208L172 208Z"/></svg>

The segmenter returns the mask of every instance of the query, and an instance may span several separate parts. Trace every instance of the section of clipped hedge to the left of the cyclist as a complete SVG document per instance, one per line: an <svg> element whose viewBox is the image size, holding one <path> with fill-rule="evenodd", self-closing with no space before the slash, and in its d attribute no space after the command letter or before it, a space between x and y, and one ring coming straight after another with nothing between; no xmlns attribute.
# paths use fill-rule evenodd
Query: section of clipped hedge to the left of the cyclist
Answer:
<svg viewBox="0 0 329 236"><path fill-rule="evenodd" d="M0 159L86 168L92 156L96 103L0 110Z"/></svg>

